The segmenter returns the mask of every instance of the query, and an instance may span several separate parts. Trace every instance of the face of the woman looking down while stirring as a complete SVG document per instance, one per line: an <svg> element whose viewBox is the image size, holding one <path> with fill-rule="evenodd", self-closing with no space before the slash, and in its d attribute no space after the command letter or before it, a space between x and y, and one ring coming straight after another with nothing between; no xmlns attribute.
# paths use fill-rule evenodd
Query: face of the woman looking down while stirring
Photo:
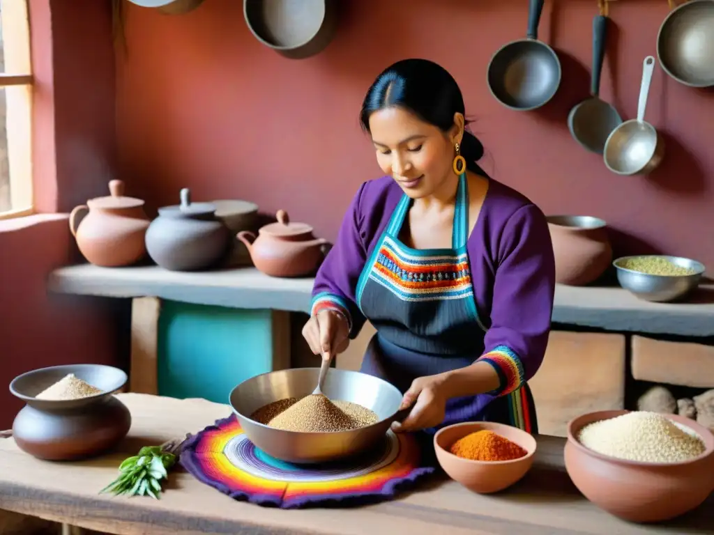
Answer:
<svg viewBox="0 0 714 535"><path fill-rule="evenodd" d="M456 178L452 164L455 143L461 142L455 125L444 134L402 108L383 108L369 117L377 163L411 198L433 195Z"/></svg>

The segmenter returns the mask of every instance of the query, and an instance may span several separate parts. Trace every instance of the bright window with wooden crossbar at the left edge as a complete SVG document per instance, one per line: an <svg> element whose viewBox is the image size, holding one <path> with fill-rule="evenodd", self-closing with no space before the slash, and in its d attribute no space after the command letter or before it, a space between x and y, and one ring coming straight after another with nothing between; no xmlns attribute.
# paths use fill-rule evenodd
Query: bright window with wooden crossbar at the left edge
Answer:
<svg viewBox="0 0 714 535"><path fill-rule="evenodd" d="M32 66L26 0L0 0L0 219L32 213Z"/></svg>

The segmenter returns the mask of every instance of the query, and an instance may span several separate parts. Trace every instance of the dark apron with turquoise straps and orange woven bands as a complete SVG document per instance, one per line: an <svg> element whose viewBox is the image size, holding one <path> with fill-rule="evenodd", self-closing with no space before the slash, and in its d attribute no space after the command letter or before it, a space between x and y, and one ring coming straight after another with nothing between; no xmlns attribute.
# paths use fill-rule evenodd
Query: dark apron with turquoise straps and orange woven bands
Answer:
<svg viewBox="0 0 714 535"><path fill-rule="evenodd" d="M399 239L412 200L403 195L368 259L356 301L375 327L361 371L401 392L413 379L473 364L483 353L489 321L479 315L468 262L468 181L458 179L451 248L414 249ZM496 397L449 399L439 427L488 420L538 432L528 384ZM435 432L428 429L427 432Z"/></svg>

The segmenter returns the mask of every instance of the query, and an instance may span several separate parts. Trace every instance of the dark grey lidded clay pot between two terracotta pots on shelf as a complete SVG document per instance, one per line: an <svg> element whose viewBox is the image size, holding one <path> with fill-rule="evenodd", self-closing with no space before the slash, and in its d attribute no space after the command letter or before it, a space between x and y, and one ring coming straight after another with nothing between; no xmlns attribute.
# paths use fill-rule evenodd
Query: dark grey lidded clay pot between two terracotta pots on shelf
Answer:
<svg viewBox="0 0 714 535"><path fill-rule="evenodd" d="M171 271L196 271L215 267L226 258L231 232L212 203L191 203L188 188L181 204L159 208L159 217L146 231L146 250L156 264Z"/></svg>

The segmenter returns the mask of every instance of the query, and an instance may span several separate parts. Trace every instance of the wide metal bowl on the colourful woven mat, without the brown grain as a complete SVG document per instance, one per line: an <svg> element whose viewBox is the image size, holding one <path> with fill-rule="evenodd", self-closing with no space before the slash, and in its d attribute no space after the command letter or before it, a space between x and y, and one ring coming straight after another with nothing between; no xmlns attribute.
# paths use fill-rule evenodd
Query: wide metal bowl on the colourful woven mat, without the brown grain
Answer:
<svg viewBox="0 0 714 535"><path fill-rule="evenodd" d="M264 405L288 397L312 394L319 368L293 368L268 372L246 379L231 392L231 407L243 432L253 444L271 457L282 461L308 464L351 457L375 446L396 419L402 394L392 384L378 377L331 369L322 387L330 399L361 404L376 412L376 424L352 431L300 433L283 431L250 418Z"/></svg>

